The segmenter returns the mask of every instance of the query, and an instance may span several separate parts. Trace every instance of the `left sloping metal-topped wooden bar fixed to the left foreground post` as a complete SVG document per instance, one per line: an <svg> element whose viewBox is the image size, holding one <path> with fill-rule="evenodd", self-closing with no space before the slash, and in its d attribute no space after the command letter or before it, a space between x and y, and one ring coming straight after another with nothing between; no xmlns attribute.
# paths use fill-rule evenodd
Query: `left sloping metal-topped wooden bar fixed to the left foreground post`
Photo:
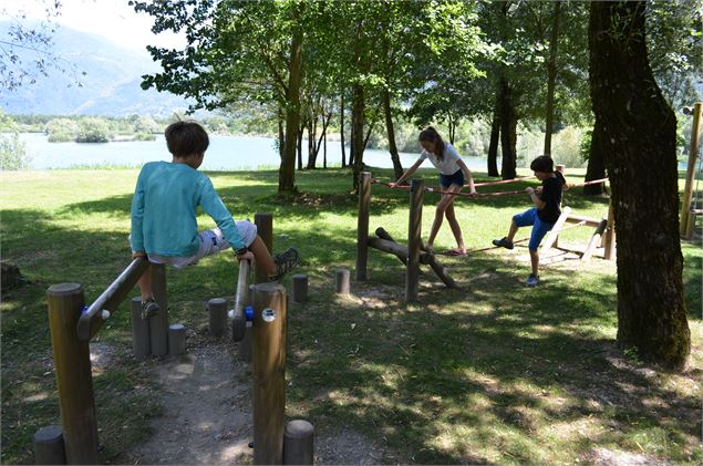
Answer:
<svg viewBox="0 0 703 466"><path fill-rule="evenodd" d="M105 321L103 311L112 314L124 301L127 293L134 288L142 275L148 268L148 261L143 257L137 257L123 270L110 287L97 297L97 299L81 315L77 323L79 340L90 341L100 330Z"/></svg>

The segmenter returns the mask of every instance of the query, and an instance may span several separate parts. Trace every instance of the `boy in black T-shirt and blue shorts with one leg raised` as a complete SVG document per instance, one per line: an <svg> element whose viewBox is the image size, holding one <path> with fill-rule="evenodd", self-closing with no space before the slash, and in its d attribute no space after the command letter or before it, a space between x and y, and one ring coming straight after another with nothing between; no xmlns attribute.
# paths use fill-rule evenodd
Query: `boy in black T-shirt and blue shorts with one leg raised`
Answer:
<svg viewBox="0 0 703 466"><path fill-rule="evenodd" d="M564 175L559 172L554 170L554 162L551 157L547 155L536 157L529 168L535 172L535 176L541 182L541 188L537 188L537 190L525 188L525 193L529 195L535 207L513 217L508 236L494 239L493 244L506 249L513 249L513 239L515 238L517 229L531 225L533 232L529 238L528 247L533 272L527 277L527 286L536 287L539 284L539 273L537 270L539 267L539 253L537 252L537 248L539 248L542 238L551 230L561 215L561 191L564 185L566 185L566 179L564 179Z"/></svg>

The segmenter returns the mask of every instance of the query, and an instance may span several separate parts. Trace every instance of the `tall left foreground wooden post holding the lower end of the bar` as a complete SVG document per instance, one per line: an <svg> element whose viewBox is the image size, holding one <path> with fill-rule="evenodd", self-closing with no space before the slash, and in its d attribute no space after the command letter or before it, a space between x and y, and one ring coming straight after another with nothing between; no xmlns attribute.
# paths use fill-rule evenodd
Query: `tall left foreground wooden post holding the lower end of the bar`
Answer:
<svg viewBox="0 0 703 466"><path fill-rule="evenodd" d="M97 421L87 341L77 338L85 298L77 283L52 284L46 291L59 406L69 464L97 464Z"/></svg>

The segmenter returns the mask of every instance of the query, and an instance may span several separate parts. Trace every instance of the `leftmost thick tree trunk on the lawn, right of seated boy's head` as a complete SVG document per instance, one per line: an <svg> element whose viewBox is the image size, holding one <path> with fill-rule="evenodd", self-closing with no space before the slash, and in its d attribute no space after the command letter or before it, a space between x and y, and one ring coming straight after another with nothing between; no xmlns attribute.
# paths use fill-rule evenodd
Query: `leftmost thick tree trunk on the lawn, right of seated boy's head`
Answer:
<svg viewBox="0 0 703 466"><path fill-rule="evenodd" d="M302 8L302 7L299 7ZM300 10L294 10L293 18L298 19ZM278 172L278 191L296 190L296 138L300 124L300 81L302 76L302 29L293 28L290 42L290 65L288 73L288 89L286 90L286 135L283 157Z"/></svg>

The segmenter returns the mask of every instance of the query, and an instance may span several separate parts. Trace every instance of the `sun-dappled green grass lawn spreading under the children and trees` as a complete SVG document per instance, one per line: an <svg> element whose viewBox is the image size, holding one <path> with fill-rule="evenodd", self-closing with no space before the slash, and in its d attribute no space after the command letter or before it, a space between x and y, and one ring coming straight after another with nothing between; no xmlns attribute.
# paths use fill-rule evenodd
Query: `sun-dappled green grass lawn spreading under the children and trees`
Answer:
<svg viewBox="0 0 703 466"><path fill-rule="evenodd" d="M389 170L373 172L390 180ZM421 173L436 184L433 172ZM582 179L571 173L570 182ZM0 174L2 259L31 280L3 290L0 308L3 464L32 463L33 433L59 423L46 288L77 282L92 302L126 266L136 175L132 169ZM402 263L370 250L370 281L352 282L352 294L338 297L334 269L353 269L355 260L358 200L348 194L348 170L299 173L303 194L292 205L275 196L275 170L209 176L237 218L273 213L275 249L296 246L300 272L309 275L310 301L289 308L289 416L309 420L319 432L361 433L383 447L380 463L703 462L700 244L682 245L690 364L684 373L670 373L613 344L614 261L556 256L541 271L542 284L527 289L525 244L510 252L442 257L462 290L447 290L423 267L420 302L409 306ZM379 186L372 193L371 231L383 226L405 242L407 193ZM436 199L425 196L424 238ZM523 195L457 200L467 247L490 246L528 203ZM600 218L608 201L572 189L565 205ZM199 224L213 225L206 216ZM583 248L591 232L570 229L560 244ZM435 247L454 246L444 225ZM232 294L236 277L229 253L170 269L172 322L201 327L205 302ZM131 356L127 306L99 334L112 349L111 363L94 374L105 444L101 459L110 463L128 462L130 449L149 435L148 420L159 414L162 389L146 371L158 362Z"/></svg>

